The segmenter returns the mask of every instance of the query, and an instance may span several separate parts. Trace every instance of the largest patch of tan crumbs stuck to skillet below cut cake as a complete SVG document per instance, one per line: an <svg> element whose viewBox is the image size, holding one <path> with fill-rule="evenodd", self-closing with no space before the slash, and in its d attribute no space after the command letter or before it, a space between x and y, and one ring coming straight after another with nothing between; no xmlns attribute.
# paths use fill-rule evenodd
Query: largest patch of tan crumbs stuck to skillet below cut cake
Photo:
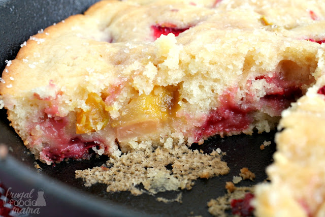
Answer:
<svg viewBox="0 0 325 217"><path fill-rule="evenodd" d="M195 179L229 172L220 155L215 150L207 154L185 145L173 149L134 150L119 159L110 158L101 167L76 170L76 178L82 178L86 187L104 183L107 192L130 191L134 195L190 190ZM138 188L141 183L145 190Z"/></svg>

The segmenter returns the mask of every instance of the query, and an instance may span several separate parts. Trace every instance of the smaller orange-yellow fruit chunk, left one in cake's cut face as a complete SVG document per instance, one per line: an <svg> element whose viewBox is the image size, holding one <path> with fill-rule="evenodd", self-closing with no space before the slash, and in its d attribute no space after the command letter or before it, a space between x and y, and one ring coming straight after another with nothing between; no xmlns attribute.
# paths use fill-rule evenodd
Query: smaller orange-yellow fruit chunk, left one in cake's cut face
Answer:
<svg viewBox="0 0 325 217"><path fill-rule="evenodd" d="M109 113L105 111L103 99L94 92L88 94L86 105L87 111L77 113L76 133L91 133L102 130L109 121Z"/></svg>

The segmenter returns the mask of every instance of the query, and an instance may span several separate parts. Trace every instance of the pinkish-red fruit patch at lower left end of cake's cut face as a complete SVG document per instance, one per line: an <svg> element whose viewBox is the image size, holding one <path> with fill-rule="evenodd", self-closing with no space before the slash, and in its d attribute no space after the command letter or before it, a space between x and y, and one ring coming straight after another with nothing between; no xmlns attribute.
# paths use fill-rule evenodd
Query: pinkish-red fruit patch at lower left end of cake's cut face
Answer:
<svg viewBox="0 0 325 217"><path fill-rule="evenodd" d="M78 137L67 135L65 128L68 125L67 117L47 117L39 123L43 136L49 146L41 152L41 158L54 162L60 162L66 158L86 159L89 158L88 150L96 146L95 142L82 141Z"/></svg>

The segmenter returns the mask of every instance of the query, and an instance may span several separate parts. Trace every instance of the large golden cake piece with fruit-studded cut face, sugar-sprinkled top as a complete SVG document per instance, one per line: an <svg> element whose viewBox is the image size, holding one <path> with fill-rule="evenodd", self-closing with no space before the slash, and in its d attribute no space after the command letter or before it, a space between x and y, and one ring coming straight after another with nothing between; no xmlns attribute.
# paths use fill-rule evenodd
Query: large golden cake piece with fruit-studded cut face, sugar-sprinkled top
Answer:
<svg viewBox="0 0 325 217"><path fill-rule="evenodd" d="M322 39L253 9L99 2L8 61L8 118L47 164L269 132L322 73Z"/></svg>

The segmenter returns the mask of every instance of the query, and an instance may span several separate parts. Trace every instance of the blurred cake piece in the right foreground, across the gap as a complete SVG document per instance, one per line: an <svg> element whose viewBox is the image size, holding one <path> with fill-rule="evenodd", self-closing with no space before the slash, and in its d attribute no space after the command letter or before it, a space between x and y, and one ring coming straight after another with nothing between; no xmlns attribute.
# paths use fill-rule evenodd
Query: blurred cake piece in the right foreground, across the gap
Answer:
<svg viewBox="0 0 325 217"><path fill-rule="evenodd" d="M255 189L257 216L325 215L325 76L283 111L277 151L267 173L271 183Z"/></svg>

